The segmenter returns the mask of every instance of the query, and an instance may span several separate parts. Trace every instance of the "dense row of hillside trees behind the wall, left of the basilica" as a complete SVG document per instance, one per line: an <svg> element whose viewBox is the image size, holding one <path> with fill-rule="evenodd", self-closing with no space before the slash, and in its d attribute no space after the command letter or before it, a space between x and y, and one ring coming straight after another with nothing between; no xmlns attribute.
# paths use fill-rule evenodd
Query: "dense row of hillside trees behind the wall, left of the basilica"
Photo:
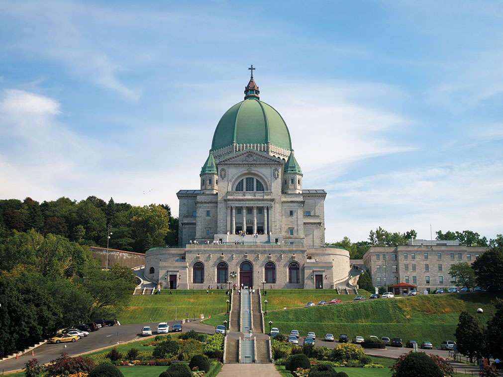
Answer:
<svg viewBox="0 0 503 377"><path fill-rule="evenodd" d="M39 203L26 198L0 200L0 231L59 235L87 246L145 252L151 247L178 244L178 218L168 205L132 206L106 203L95 196L77 202L65 197Z"/></svg>

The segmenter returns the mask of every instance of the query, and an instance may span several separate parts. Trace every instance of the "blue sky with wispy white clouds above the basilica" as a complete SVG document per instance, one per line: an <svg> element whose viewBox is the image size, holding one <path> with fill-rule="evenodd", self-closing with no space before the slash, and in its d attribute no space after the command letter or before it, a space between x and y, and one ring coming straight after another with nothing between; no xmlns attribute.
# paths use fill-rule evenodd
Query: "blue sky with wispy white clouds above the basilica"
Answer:
<svg viewBox="0 0 503 377"><path fill-rule="evenodd" d="M0 198L198 189L250 64L325 239L503 233L500 1L0 0Z"/></svg>

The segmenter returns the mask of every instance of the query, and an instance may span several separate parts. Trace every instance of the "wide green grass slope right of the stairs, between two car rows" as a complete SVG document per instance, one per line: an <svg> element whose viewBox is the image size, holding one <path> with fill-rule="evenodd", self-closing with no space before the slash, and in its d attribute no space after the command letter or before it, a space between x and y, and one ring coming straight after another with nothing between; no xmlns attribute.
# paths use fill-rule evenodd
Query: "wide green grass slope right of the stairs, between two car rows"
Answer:
<svg viewBox="0 0 503 377"><path fill-rule="evenodd" d="M314 331L317 337L326 333L348 334L350 338L375 335L399 337L404 343L431 341L434 346L440 346L443 340L454 339L461 311L476 315L476 309L481 307L484 314L476 318L485 323L495 312L490 304L493 299L491 295L476 293L379 299L269 312L266 322L273 321L272 326L283 334L295 329L303 336L308 331ZM285 297L284 301L290 303L291 300ZM281 300L276 305L281 306Z"/></svg>

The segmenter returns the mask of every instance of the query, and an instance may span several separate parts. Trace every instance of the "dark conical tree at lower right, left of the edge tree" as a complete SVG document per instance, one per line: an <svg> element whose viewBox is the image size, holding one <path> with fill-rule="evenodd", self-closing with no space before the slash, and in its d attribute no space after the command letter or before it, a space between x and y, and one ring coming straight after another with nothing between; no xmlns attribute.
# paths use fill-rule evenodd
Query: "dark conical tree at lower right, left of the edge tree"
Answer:
<svg viewBox="0 0 503 377"><path fill-rule="evenodd" d="M467 311L459 315L455 336L458 351L470 357L470 362L473 362L474 357L484 353L485 334L475 317Z"/></svg>

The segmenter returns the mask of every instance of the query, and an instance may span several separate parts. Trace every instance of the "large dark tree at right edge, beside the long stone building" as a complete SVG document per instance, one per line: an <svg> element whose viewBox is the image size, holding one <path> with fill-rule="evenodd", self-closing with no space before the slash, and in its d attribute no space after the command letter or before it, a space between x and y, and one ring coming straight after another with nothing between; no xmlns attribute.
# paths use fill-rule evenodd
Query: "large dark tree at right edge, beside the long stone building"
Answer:
<svg viewBox="0 0 503 377"><path fill-rule="evenodd" d="M471 264L477 284L487 291L503 290L503 251L489 249Z"/></svg>

